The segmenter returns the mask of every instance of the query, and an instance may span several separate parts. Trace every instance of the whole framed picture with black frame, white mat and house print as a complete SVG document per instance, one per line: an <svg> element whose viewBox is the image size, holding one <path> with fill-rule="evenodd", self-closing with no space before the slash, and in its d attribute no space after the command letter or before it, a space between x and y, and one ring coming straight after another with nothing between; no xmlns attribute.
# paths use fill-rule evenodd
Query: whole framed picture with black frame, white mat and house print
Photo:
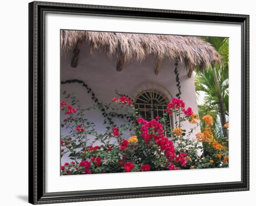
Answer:
<svg viewBox="0 0 256 206"><path fill-rule="evenodd" d="M249 190L249 16L29 3L29 202Z"/></svg>

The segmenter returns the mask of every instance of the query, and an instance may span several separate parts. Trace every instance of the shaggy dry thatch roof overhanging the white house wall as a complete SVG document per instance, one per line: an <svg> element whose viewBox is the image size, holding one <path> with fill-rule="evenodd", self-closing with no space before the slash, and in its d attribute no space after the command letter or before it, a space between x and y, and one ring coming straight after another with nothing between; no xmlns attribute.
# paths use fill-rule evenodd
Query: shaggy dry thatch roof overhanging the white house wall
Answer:
<svg viewBox="0 0 256 206"><path fill-rule="evenodd" d="M150 54L158 60L168 58L185 61L189 70L193 70L195 66L204 69L209 64L221 63L220 54L199 37L61 30L62 52L74 49L81 41L90 45L91 52L103 49L109 56L122 56L124 63L144 60Z"/></svg>

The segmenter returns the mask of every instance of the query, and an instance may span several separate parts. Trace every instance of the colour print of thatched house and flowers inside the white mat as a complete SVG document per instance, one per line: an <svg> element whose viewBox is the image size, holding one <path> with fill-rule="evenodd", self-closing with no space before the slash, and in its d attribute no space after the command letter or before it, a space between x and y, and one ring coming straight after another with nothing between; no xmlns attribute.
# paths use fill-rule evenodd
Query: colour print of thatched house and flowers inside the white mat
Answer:
<svg viewBox="0 0 256 206"><path fill-rule="evenodd" d="M60 35L61 175L229 166L229 38Z"/></svg>

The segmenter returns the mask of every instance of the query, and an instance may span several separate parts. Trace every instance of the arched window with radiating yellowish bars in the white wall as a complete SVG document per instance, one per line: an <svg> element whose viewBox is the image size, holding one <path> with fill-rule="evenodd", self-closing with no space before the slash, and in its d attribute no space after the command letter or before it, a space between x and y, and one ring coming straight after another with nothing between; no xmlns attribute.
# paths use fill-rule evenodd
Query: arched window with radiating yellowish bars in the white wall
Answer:
<svg viewBox="0 0 256 206"><path fill-rule="evenodd" d="M137 94L135 97L135 108L138 109L144 119L152 120L157 115L163 117L169 101L163 92L150 88ZM173 128L171 115L167 116L166 122L168 126Z"/></svg>

